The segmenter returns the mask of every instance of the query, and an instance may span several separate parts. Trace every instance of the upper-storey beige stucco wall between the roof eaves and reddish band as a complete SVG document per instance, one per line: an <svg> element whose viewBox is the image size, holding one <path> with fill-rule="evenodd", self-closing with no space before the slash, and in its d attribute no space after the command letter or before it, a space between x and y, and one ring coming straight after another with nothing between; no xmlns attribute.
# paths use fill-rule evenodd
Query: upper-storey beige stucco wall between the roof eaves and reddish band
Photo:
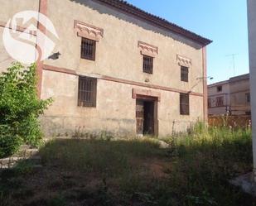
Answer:
<svg viewBox="0 0 256 206"><path fill-rule="evenodd" d="M114 9L93 1L49 1L48 15L56 26L60 41L56 51L59 60L47 60L45 64L67 69L75 69L79 74L104 74L202 93L203 76L201 46L171 32L157 29ZM62 5L60 7L60 5ZM81 60L81 38L74 31L74 21L79 20L104 29L104 37L97 43L96 60ZM142 72L142 55L138 41L157 46L159 54L154 59L153 74ZM189 83L181 83L180 66L176 55L184 55L192 60Z"/></svg>

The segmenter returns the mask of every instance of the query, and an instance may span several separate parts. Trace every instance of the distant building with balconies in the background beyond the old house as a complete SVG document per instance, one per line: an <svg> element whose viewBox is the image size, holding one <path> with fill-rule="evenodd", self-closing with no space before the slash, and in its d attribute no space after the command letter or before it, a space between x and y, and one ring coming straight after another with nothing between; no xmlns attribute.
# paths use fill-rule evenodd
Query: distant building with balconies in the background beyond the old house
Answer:
<svg viewBox="0 0 256 206"><path fill-rule="evenodd" d="M250 115L249 74L208 85L209 115Z"/></svg>

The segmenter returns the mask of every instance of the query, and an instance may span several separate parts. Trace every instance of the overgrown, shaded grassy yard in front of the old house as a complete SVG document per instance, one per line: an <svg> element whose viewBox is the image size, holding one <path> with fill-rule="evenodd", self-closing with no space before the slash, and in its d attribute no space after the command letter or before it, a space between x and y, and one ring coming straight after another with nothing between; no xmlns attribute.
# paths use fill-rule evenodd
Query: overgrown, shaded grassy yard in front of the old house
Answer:
<svg viewBox="0 0 256 206"><path fill-rule="evenodd" d="M153 138L50 141L42 168L2 172L0 205L256 205L228 182L253 168L250 130L196 127L165 141L171 148Z"/></svg>

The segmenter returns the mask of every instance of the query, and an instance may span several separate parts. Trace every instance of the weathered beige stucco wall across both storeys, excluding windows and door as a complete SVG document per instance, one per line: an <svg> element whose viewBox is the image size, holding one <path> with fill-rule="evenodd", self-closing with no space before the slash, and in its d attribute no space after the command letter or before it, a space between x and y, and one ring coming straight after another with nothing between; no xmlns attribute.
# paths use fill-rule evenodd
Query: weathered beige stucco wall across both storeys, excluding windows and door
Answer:
<svg viewBox="0 0 256 206"><path fill-rule="evenodd" d="M0 14L2 22L7 22L14 13L22 10L38 11L39 5L37 0L0 2L5 8ZM136 100L132 98L133 89L161 93L161 102L157 109L158 131L161 136L173 131L185 131L191 122L203 120L202 93L205 74L200 45L91 0L48 0L46 13L60 37L59 40L54 39L56 48L53 52L59 51L61 55L57 60L45 60L45 65L71 69L76 74L96 78L106 75L201 94L190 95L191 113L189 116L181 116L179 90L171 92L98 79L97 107L80 108L77 106L78 75L43 70L41 98L54 98L54 103L41 117L46 136L65 133L70 135L78 128L85 132L135 134ZM104 36L97 42L95 61L80 59L81 38L75 33L75 20L104 29ZM53 37L48 31L46 34ZM142 72L142 55L138 49L138 41L158 47L153 74ZM0 59L7 55L2 54ZM181 82L181 68L176 55L191 59L188 83ZM7 61L1 68L6 68L9 63ZM149 82L146 83L146 79Z"/></svg>

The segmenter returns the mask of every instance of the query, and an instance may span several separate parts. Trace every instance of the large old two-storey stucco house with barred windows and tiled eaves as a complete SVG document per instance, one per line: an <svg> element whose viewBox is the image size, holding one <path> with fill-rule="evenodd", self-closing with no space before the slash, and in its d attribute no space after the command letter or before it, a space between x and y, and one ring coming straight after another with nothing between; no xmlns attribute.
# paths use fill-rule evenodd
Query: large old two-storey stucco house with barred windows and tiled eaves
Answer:
<svg viewBox="0 0 256 206"><path fill-rule="evenodd" d="M41 117L46 135L81 128L164 136L207 121L210 40L118 0L0 2L2 26L16 12L35 10L60 37L60 55L38 63L40 96L54 98Z"/></svg>

